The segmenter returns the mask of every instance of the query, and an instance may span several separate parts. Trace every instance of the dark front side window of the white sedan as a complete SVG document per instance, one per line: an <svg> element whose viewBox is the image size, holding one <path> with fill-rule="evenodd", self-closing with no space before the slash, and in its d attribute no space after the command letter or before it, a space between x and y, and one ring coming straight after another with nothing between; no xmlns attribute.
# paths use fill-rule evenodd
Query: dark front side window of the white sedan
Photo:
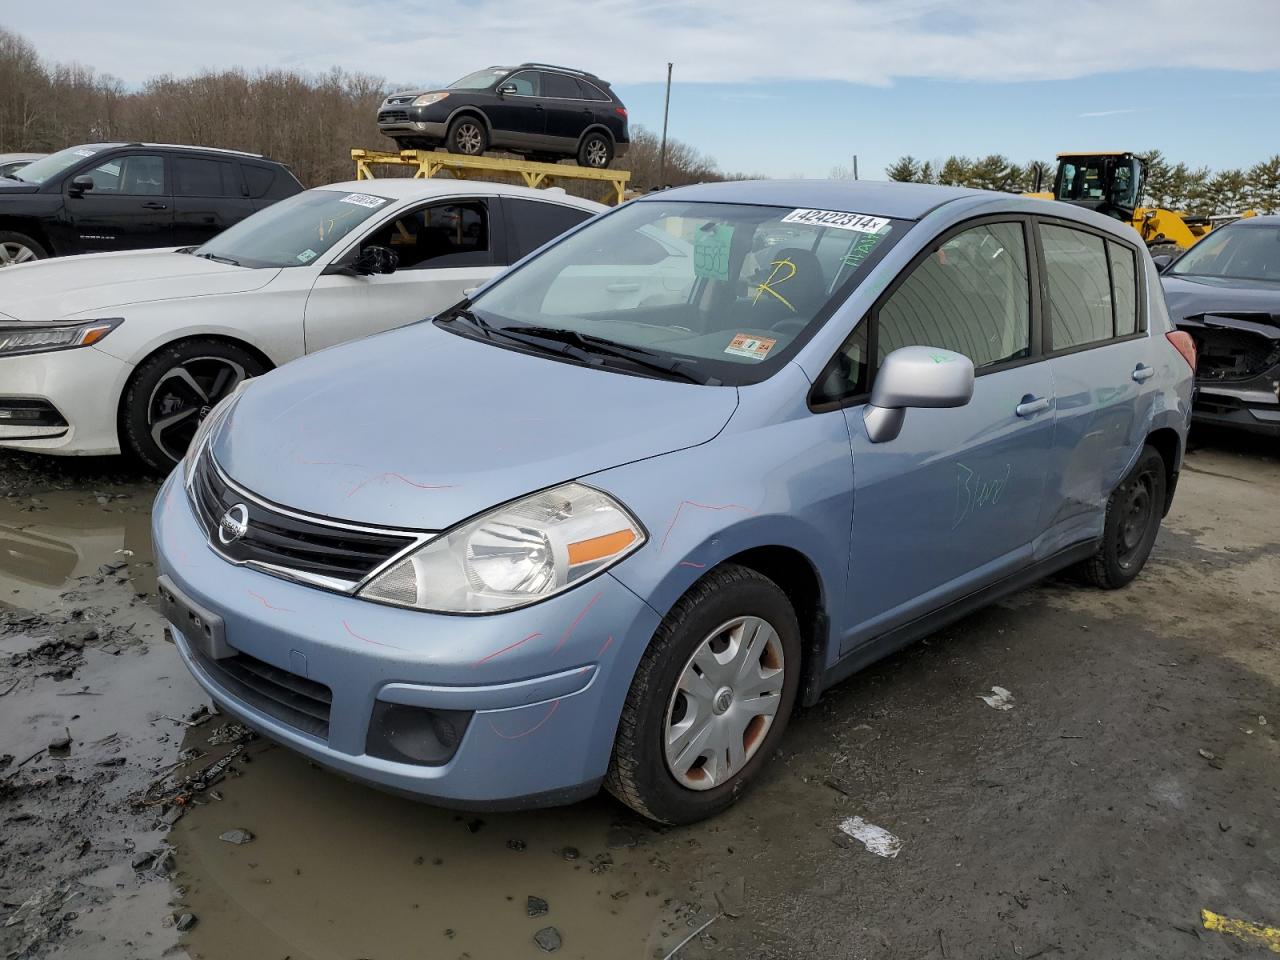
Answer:
<svg viewBox="0 0 1280 960"><path fill-rule="evenodd" d="M420 207L379 228L362 246L390 247L399 270L485 265L492 262L489 209L483 200Z"/></svg>

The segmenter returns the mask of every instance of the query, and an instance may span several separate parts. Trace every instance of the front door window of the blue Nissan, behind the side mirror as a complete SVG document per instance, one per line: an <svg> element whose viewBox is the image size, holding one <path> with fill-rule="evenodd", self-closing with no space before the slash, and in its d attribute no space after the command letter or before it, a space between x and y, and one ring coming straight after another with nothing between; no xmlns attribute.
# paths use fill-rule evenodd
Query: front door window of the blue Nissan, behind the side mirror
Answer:
<svg viewBox="0 0 1280 960"><path fill-rule="evenodd" d="M942 347L974 369L1030 352L1027 242L1016 223L957 233L918 264L881 306L876 356L899 347Z"/></svg>

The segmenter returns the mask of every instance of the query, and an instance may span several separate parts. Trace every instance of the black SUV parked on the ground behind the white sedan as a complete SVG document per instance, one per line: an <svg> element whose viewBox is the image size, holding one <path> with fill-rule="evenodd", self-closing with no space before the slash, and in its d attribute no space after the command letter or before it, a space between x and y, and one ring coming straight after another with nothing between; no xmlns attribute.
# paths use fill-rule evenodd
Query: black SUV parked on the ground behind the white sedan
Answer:
<svg viewBox="0 0 1280 960"><path fill-rule="evenodd" d="M257 154L165 143L68 147L0 178L0 266L204 243L302 184Z"/></svg>

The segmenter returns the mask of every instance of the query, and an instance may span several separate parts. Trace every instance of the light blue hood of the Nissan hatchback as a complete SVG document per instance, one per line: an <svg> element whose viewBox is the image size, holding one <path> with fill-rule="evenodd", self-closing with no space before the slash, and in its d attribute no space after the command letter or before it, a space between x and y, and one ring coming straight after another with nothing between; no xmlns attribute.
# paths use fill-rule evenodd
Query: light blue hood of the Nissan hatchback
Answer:
<svg viewBox="0 0 1280 960"><path fill-rule="evenodd" d="M255 494L325 517L443 530L567 480L710 440L732 387L521 353L430 323L253 381L214 457Z"/></svg>

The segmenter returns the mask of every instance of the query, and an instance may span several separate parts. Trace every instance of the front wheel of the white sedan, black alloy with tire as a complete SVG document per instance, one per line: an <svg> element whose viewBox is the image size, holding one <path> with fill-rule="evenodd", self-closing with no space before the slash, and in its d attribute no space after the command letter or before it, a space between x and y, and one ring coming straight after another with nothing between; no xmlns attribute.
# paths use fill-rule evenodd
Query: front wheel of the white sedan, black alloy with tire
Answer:
<svg viewBox="0 0 1280 960"><path fill-rule="evenodd" d="M261 360L225 340L195 338L164 347L124 390L120 445L152 470L169 472L214 404L265 372Z"/></svg>

